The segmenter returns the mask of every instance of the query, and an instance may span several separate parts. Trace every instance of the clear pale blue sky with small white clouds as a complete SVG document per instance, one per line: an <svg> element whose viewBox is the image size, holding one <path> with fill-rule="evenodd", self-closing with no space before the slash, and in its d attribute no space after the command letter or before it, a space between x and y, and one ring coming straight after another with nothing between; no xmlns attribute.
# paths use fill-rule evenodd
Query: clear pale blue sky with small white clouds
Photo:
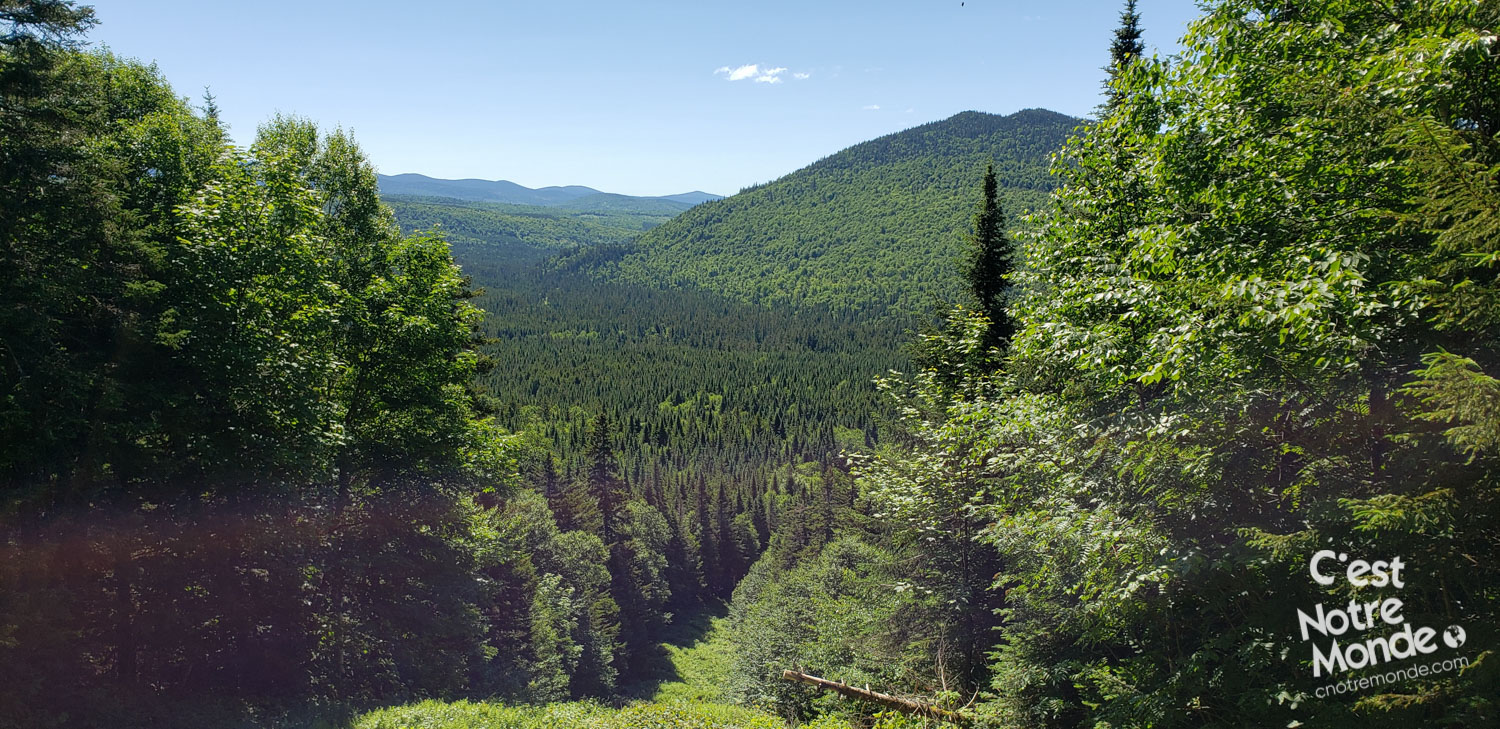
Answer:
<svg viewBox="0 0 1500 729"><path fill-rule="evenodd" d="M963 4L960 4L963 2ZM276 112L351 129L386 174L722 195L958 111L1088 114L1116 0L96 0L94 44L210 87L248 142ZM1191 0L1140 0L1178 50Z"/></svg>

